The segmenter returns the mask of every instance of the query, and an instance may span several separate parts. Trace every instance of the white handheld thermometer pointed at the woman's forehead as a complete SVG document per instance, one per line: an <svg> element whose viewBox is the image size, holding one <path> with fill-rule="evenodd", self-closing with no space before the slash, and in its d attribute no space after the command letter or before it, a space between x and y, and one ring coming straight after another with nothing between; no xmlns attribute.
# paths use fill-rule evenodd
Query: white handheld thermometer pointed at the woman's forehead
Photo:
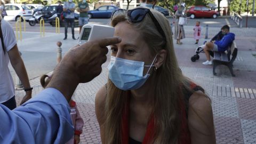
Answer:
<svg viewBox="0 0 256 144"><path fill-rule="evenodd" d="M86 43L87 41L106 38L106 37L113 37L115 32L115 28L111 26L105 25L97 25L93 23L87 23L83 26L79 39L78 45Z"/></svg>

